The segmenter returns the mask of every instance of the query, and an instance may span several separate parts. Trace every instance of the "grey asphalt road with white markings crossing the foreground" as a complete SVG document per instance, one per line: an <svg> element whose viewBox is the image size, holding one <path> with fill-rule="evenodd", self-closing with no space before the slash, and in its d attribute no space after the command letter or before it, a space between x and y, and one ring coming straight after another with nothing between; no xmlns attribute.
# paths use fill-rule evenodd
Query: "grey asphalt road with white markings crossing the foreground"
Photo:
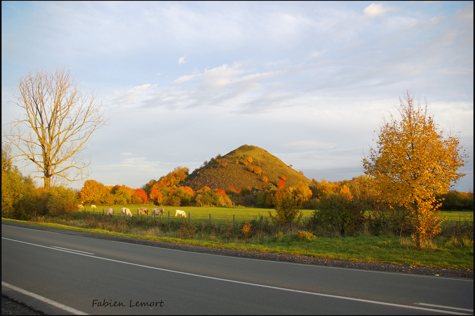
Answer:
<svg viewBox="0 0 475 316"><path fill-rule="evenodd" d="M2 294L51 315L473 314L473 289L473 279L244 259L2 225Z"/></svg>

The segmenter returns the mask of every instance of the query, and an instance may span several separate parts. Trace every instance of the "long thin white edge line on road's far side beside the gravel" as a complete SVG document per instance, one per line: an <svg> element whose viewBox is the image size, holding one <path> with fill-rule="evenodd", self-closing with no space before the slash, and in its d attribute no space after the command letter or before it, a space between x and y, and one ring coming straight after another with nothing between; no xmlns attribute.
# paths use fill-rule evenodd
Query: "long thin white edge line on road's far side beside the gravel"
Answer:
<svg viewBox="0 0 475 316"><path fill-rule="evenodd" d="M118 242L118 241L115 241L115 240L109 240L109 241L114 242L114 243L119 243L119 244L130 244L130 245L135 245L135 246L158 248L158 249L171 250L171 251L179 251L179 252L182 252L182 253L196 253L194 251L162 248L160 246L148 246L148 245L144 245L144 244L124 243L124 242ZM220 249L222 249L222 248L220 248ZM227 249L225 249L225 250L227 250ZM234 259L254 260L254 261L262 261L262 262L294 264L294 265L301 265L301 266L304 266L304 267L315 267L315 268L339 269L339 270L360 271L360 272L384 273L384 274L394 274L394 275L411 276L411 277L433 278L433 279L439 279L439 280L444 279L444 280L459 280L459 281L469 281L469 282L474 281L473 279L466 279L466 278L435 277L435 276L431 276L431 275L414 274L414 273L407 273L407 272L389 272L389 271L365 270L365 269L359 269L359 268L341 268L341 267L331 267L331 266L317 265L317 264L305 264L305 263L297 263L297 262L285 262L285 261L273 261L273 260L264 260L264 259L256 259L256 258L234 257L234 256L227 256L227 255L224 255L224 254L213 254L213 253L197 253L197 254L205 254L205 255L208 255L208 256L218 256L218 257L234 258Z"/></svg>

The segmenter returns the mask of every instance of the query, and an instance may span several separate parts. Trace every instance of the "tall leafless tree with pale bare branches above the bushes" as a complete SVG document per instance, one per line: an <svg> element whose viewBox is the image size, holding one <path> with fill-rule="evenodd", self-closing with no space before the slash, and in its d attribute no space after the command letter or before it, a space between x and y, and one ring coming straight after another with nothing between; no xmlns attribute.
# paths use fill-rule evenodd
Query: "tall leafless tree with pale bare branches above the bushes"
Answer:
<svg viewBox="0 0 475 316"><path fill-rule="evenodd" d="M109 119L93 90L83 92L71 68L63 65L55 73L31 69L11 91L13 102L24 114L10 121L3 141L10 144L12 159L24 166L34 163L44 178L77 181L89 176L89 161L83 159L94 131ZM23 116L23 117L22 117Z"/></svg>

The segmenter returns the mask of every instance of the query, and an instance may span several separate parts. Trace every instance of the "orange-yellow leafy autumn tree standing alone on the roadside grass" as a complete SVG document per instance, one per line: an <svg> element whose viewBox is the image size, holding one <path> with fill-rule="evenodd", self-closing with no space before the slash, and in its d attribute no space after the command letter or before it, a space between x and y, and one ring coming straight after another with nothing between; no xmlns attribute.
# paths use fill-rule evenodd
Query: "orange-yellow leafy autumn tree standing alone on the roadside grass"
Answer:
<svg viewBox="0 0 475 316"><path fill-rule="evenodd" d="M434 123L427 101L424 106L419 100L415 104L409 90L399 101L399 119L383 117L377 146L370 148L362 163L365 174L374 178L381 200L411 211L412 237L420 247L441 231L437 209L441 200L436 194L447 192L451 181L465 175L457 169L465 165L468 156L459 153L459 136L447 135Z"/></svg>

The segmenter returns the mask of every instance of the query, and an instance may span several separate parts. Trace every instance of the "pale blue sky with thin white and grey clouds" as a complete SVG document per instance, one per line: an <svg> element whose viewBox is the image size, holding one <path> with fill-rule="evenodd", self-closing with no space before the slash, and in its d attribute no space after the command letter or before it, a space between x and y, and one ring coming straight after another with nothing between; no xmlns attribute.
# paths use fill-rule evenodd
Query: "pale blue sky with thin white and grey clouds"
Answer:
<svg viewBox="0 0 475 316"><path fill-rule="evenodd" d="M437 124L460 132L469 162L454 188L473 189L473 1L1 8L3 128L21 114L9 99L28 69L70 66L109 116L85 155L88 179L140 188L243 144L309 179L351 179L411 89Z"/></svg>

